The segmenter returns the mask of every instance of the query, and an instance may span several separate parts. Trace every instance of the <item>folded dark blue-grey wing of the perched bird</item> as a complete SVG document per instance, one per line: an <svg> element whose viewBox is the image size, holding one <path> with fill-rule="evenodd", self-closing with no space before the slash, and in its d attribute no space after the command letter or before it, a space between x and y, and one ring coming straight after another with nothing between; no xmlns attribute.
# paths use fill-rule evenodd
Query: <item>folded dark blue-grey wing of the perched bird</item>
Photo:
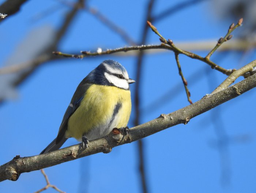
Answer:
<svg viewBox="0 0 256 193"><path fill-rule="evenodd" d="M56 144L58 144L65 137L66 130L68 129L68 120L76 109L80 106L80 102L86 95L87 89L91 86L90 83L87 83L86 78L78 85L76 91L71 99L71 102L63 116L63 120L60 124L59 133L56 137Z"/></svg>

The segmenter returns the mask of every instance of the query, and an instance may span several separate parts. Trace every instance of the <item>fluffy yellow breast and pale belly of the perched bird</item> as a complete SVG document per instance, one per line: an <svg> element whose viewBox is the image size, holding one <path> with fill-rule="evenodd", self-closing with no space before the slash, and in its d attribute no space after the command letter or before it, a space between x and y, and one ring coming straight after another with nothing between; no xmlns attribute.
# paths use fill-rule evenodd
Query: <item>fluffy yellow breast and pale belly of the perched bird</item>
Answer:
<svg viewBox="0 0 256 193"><path fill-rule="evenodd" d="M117 103L120 103L121 107L113 119ZM127 126L130 114L131 93L129 90L93 84L87 89L78 109L69 118L65 136L75 137L78 140L83 135L89 140L103 137L114 127Z"/></svg>

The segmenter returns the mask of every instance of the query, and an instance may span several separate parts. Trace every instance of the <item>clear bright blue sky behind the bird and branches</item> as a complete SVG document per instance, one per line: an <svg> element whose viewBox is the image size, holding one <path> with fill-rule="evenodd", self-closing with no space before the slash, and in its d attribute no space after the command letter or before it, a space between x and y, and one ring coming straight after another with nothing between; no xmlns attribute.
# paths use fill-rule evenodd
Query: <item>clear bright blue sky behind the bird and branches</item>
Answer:
<svg viewBox="0 0 256 193"><path fill-rule="evenodd" d="M156 1L153 14L178 2ZM147 1L91 0L89 5L121 26L135 41L140 41L146 22ZM44 43L51 41L50 35L58 29L68 10L69 7L59 1L27 1L17 14L1 22L0 66L17 64L36 54ZM40 13L42 17L36 19ZM225 35L230 21L217 20L211 3L206 1L154 24L164 37L175 43L217 41ZM147 43L159 43L157 35L149 33ZM237 37L238 32L233 34ZM113 49L125 45L128 44L119 35L90 14L80 11L61 41L59 51L79 53L80 50ZM16 155L39 154L56 137L65 109L80 81L109 58L123 64L129 76L135 79L136 57L109 55L49 62L19 86L16 99L0 106L0 164ZM213 56L213 60L225 68L239 68L254 59L254 51L244 57L241 53ZM180 62L193 102L213 91L226 78L200 61L181 56ZM0 78L2 81L8 76ZM131 93L133 97L134 84ZM146 55L140 94L140 123L189 105L172 52ZM163 95L166 99L159 103ZM11 96L14 98L15 94ZM254 89L193 118L187 125L177 125L143 139L148 192L255 192L255 98ZM156 100L160 105L153 106ZM133 120L134 109L129 127L134 126ZM69 139L65 146L76 143ZM100 153L63 163L47 168L45 172L53 185L68 193L141 192L137 145L136 142L122 145L110 154ZM27 193L43 186L43 175L33 171L21 174L16 182L1 182L0 192ZM46 192L56 191L49 189Z"/></svg>

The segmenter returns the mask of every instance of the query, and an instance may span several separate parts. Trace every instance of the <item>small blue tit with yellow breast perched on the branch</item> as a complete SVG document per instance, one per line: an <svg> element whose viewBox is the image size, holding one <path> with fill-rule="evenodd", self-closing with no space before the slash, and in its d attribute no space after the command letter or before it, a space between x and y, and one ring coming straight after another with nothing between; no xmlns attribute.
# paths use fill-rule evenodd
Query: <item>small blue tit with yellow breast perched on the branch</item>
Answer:
<svg viewBox="0 0 256 193"><path fill-rule="evenodd" d="M57 137L41 154L58 150L69 137L86 145L127 126L131 114L130 79L126 69L105 60L80 82L64 114Z"/></svg>

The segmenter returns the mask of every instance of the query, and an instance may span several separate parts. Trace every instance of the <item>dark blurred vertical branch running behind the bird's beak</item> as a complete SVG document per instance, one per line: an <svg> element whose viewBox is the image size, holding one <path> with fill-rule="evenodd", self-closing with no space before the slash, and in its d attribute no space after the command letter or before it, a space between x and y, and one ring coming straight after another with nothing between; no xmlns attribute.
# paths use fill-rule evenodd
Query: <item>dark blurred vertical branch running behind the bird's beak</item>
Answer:
<svg viewBox="0 0 256 193"><path fill-rule="evenodd" d="M142 36L140 45L144 45L147 41L147 35L148 35L148 26L145 21L151 20L151 14L153 10L154 0L149 0L147 5L147 13L145 19L143 19L143 29L142 29ZM135 126L140 124L140 118L141 118L141 112L140 112L140 99L142 96L140 96L140 91L142 90L142 66L143 66L143 58L144 58L144 52L139 52L137 63L136 63L136 85L135 85L135 119L133 121L133 124ZM140 172L140 180L142 184L142 192L147 193L148 192L148 185L147 185L147 177L145 172L145 152L144 152L144 143L142 139L139 139L138 141L138 154L139 154L139 172Z"/></svg>

